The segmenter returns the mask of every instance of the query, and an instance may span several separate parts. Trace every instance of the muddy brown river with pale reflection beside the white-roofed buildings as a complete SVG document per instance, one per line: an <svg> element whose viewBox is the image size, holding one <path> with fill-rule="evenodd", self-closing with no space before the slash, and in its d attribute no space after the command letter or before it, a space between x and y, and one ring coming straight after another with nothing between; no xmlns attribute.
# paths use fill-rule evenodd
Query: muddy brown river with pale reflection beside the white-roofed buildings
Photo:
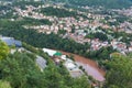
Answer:
<svg viewBox="0 0 132 88"><path fill-rule="evenodd" d="M70 53L62 52L65 55L70 55ZM85 68L86 73L92 76L98 81L105 81L106 72L97 65L95 61L89 58L73 54L75 62Z"/></svg>

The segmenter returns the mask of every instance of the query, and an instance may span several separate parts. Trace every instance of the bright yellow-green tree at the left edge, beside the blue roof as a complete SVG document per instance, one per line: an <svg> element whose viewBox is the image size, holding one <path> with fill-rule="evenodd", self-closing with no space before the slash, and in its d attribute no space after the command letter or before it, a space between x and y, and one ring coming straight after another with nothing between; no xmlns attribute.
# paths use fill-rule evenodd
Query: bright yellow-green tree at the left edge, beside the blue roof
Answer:
<svg viewBox="0 0 132 88"><path fill-rule="evenodd" d="M0 41L0 59L4 58L8 54L9 54L8 45Z"/></svg>

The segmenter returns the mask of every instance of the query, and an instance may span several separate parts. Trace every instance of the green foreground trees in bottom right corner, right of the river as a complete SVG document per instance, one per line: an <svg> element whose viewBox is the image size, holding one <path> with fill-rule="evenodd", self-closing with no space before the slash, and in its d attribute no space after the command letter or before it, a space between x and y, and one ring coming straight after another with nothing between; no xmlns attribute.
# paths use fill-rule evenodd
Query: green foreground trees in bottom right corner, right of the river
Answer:
<svg viewBox="0 0 132 88"><path fill-rule="evenodd" d="M131 88L132 87L132 61L128 56L119 53L111 55L108 63L110 70L107 74L107 87L110 88Z"/></svg>

